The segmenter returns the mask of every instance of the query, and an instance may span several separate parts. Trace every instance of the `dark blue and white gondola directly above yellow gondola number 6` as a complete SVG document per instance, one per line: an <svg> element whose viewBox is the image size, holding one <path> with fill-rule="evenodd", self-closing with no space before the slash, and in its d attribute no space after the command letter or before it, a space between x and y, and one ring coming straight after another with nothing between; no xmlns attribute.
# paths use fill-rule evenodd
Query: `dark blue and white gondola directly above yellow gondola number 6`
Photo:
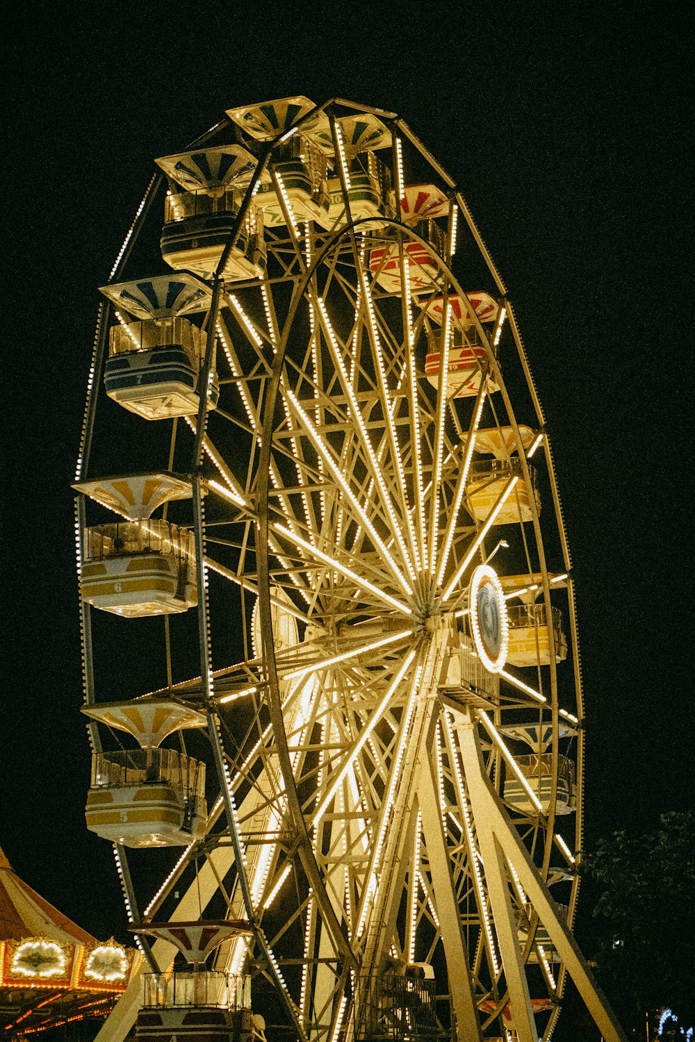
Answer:
<svg viewBox="0 0 695 1042"><path fill-rule="evenodd" d="M146 420L196 415L206 338L183 316L205 308L207 288L181 273L104 286L101 292L116 305L119 318L109 330L104 369L108 397ZM208 410L215 408L219 395L213 367L205 390Z"/></svg>

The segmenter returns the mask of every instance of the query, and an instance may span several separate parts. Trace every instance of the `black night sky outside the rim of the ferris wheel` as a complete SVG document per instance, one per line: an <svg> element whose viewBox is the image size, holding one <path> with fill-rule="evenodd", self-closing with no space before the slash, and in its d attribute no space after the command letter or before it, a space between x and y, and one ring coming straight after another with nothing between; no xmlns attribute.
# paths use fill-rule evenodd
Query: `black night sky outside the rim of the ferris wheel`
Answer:
<svg viewBox="0 0 695 1042"><path fill-rule="evenodd" d="M0 845L18 872L84 928L124 936L110 847L83 819L70 481L97 287L154 156L225 107L293 94L399 113L506 281L574 559L588 845L691 807L685 5L46 9L18 16L4 75Z"/></svg>

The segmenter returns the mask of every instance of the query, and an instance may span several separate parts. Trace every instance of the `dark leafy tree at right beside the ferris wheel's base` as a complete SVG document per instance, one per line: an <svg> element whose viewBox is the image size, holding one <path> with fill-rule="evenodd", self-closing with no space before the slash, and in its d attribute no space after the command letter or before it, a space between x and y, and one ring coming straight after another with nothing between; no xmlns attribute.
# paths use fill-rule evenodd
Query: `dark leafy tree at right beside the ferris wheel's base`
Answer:
<svg viewBox="0 0 695 1042"><path fill-rule="evenodd" d="M601 840L585 861L598 978L626 1028L671 1007L695 1023L695 814Z"/></svg>

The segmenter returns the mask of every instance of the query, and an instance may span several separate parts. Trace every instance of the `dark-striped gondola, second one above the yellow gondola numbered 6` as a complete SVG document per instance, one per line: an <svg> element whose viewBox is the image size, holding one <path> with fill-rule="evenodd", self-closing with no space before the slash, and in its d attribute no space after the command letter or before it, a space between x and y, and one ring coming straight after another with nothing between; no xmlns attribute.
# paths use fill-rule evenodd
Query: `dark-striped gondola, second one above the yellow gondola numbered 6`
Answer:
<svg viewBox="0 0 695 1042"><path fill-rule="evenodd" d="M239 223L256 160L241 145L223 145L156 163L173 184L165 203L162 255L171 268L212 278ZM263 214L250 203L221 276L233 282L260 278L265 270Z"/></svg>

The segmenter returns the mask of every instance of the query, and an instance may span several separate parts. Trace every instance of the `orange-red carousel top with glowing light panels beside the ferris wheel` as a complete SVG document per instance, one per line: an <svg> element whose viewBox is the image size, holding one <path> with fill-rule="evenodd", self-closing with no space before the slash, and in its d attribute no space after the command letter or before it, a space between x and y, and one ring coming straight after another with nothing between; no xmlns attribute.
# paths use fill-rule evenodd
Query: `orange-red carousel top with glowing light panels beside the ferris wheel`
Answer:
<svg viewBox="0 0 695 1042"><path fill-rule="evenodd" d="M0 1037L103 1016L140 960L113 938L97 941L49 904L0 849Z"/></svg>

